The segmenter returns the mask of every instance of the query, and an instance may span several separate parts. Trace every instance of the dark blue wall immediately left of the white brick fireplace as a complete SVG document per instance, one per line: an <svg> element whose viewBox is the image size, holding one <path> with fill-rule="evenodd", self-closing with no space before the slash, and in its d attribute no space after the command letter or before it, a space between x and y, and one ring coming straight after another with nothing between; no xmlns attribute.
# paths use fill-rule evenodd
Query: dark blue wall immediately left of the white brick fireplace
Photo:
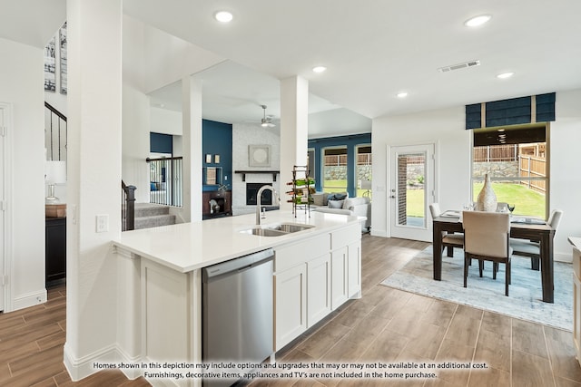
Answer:
<svg viewBox="0 0 581 387"><path fill-rule="evenodd" d="M212 162L206 162L207 154L212 155ZM220 155L219 163L214 162L215 155ZM230 123L202 120L202 165L203 167L222 167L222 182L231 189L232 125ZM203 191L216 189L218 189L217 186L202 185Z"/></svg>

